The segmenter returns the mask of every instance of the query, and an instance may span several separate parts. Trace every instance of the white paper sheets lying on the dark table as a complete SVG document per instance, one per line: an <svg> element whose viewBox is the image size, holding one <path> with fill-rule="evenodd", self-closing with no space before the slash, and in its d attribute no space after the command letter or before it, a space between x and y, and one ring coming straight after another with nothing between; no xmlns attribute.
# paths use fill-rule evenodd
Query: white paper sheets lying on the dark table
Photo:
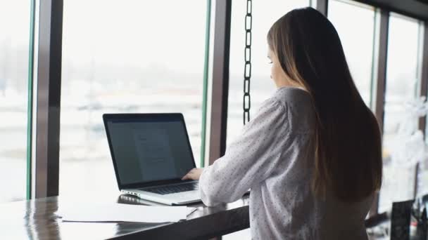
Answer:
<svg viewBox="0 0 428 240"><path fill-rule="evenodd" d="M56 215L64 222L178 222L196 208L132 204L78 204L61 207Z"/></svg>

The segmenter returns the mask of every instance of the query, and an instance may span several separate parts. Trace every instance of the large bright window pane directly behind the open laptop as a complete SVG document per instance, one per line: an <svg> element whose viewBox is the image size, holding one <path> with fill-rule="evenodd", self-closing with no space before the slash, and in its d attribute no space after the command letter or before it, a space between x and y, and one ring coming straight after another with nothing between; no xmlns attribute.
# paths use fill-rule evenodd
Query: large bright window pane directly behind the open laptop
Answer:
<svg viewBox="0 0 428 240"><path fill-rule="evenodd" d="M63 21L60 194L117 194L106 112L182 112L199 165L206 1L64 1Z"/></svg>

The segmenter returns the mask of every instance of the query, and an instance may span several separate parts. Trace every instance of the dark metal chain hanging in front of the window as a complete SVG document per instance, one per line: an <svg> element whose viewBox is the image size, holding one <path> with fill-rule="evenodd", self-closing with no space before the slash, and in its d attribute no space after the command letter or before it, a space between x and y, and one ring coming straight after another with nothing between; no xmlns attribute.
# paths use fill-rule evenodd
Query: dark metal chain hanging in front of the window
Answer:
<svg viewBox="0 0 428 240"><path fill-rule="evenodd" d="M250 121L250 79L251 79L251 27L253 25L253 1L246 1L245 15L245 67L244 67L244 125Z"/></svg>

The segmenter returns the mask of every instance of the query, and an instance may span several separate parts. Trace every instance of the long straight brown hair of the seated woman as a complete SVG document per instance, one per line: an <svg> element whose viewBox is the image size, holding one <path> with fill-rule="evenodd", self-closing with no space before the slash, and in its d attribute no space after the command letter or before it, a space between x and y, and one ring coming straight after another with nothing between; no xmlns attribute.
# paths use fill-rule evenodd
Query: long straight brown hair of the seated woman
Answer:
<svg viewBox="0 0 428 240"><path fill-rule="evenodd" d="M285 74L306 88L317 115L312 188L346 202L382 185L379 125L353 82L339 35L314 8L279 18L267 34Z"/></svg>

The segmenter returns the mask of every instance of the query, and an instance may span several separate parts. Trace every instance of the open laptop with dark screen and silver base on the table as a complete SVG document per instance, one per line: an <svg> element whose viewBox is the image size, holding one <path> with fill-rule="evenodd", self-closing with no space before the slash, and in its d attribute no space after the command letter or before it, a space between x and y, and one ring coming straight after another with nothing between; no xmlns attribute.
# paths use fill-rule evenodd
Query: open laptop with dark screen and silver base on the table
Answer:
<svg viewBox="0 0 428 240"><path fill-rule="evenodd" d="M103 121L121 192L168 205L201 201L199 182L181 180L196 167L182 114L103 114Z"/></svg>

